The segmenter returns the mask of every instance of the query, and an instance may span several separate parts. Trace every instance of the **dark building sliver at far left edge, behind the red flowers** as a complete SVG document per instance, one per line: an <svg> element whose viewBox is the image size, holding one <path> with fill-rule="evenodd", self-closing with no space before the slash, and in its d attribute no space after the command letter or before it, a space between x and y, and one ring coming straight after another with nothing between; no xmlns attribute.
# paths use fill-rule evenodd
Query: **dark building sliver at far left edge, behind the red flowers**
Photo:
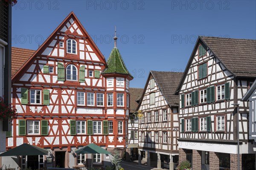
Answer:
<svg viewBox="0 0 256 170"><path fill-rule="evenodd" d="M0 1L0 98L11 104L12 6ZM3 140L10 129L8 121L0 119L0 152L6 151Z"/></svg>

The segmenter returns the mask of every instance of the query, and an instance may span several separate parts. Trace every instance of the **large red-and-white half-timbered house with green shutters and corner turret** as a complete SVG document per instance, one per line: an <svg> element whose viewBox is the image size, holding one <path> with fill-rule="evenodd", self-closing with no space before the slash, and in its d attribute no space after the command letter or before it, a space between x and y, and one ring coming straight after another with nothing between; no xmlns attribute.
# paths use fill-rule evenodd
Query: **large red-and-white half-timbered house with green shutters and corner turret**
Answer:
<svg viewBox="0 0 256 170"><path fill-rule="evenodd" d="M49 153L2 157L4 164L38 169L91 161L99 166L110 163L110 155L75 153L90 143L124 153L128 146L129 81L133 77L114 39L115 47L106 62L71 12L38 50L13 48L13 64L19 64L13 69L12 105L18 116L6 147L29 143Z"/></svg>

